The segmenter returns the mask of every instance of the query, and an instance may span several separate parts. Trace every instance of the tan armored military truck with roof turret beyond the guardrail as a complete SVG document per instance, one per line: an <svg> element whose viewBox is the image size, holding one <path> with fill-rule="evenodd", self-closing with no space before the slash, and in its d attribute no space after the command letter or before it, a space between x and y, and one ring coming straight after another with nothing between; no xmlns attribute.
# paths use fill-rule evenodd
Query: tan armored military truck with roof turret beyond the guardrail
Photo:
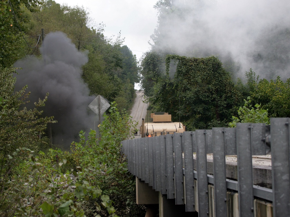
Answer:
<svg viewBox="0 0 290 217"><path fill-rule="evenodd" d="M183 133L185 131L185 125L180 122L171 122L171 115L168 113L161 115L151 113L151 118L153 118L151 123L144 123L144 119L142 119L142 126L140 126L141 138Z"/></svg>

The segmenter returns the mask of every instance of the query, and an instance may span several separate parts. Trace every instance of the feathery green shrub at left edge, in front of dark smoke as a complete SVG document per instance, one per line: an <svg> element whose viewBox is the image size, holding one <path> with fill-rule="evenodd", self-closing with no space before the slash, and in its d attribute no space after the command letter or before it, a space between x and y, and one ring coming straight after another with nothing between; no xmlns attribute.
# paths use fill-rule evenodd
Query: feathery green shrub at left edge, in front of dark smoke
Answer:
<svg viewBox="0 0 290 217"><path fill-rule="evenodd" d="M30 93L25 93L27 86L14 92L16 79L13 73L16 73L14 68L0 68L0 96L5 100L5 110L2 107L0 113L6 113L0 122L0 159L19 146L35 150L41 144L47 146L46 139L41 136L47 124L54 122L53 117L42 117L42 111L39 111L47 96L35 102L34 108L25 107Z"/></svg>

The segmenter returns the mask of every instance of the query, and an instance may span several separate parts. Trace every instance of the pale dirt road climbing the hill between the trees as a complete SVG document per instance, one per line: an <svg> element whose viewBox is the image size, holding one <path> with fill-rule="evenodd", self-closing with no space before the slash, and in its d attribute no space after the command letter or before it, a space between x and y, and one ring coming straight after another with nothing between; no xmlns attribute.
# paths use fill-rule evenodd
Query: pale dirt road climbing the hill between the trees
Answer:
<svg viewBox="0 0 290 217"><path fill-rule="evenodd" d="M147 112L147 104L145 104L144 98L142 97L143 92L142 91L136 91L136 99L133 105L133 108L131 110L131 116L133 117L132 120L138 122L137 129L139 129L139 126L142 124L142 118L146 117ZM139 135L139 131L138 131Z"/></svg>

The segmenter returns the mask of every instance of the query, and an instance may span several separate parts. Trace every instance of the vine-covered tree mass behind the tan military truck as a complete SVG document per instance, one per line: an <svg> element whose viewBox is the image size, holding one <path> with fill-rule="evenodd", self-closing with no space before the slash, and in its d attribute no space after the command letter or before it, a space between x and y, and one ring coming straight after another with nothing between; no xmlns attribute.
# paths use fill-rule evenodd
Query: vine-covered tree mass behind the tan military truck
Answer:
<svg viewBox="0 0 290 217"><path fill-rule="evenodd" d="M169 65L175 61L174 79ZM216 57L187 58L168 55L167 79L160 79L149 98L153 109L171 113L189 130L226 126L239 99L229 73ZM179 103L180 102L180 103Z"/></svg>

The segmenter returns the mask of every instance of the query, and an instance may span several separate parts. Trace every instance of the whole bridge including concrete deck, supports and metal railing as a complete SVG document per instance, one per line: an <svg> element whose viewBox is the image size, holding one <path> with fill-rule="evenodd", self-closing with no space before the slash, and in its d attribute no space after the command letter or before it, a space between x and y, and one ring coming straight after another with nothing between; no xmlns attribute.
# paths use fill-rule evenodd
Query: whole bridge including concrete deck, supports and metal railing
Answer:
<svg viewBox="0 0 290 217"><path fill-rule="evenodd" d="M155 204L159 216L290 216L289 123L122 141L137 204Z"/></svg>

